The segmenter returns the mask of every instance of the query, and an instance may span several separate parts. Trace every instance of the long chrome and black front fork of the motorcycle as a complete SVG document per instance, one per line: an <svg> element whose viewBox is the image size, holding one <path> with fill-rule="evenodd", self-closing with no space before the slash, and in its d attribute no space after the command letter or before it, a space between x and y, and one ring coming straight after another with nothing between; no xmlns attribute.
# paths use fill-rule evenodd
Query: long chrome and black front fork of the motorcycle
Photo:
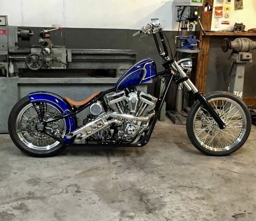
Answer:
<svg viewBox="0 0 256 221"><path fill-rule="evenodd" d="M193 98L195 100L199 100L199 102L203 105L204 109L209 112L211 117L217 122L219 128L224 129L226 125L223 120L218 116L216 111L212 108L212 106L205 99L205 97L197 90L195 85L191 82L191 80L187 77L186 73L175 60L171 61L171 67L176 76L179 76L179 79L176 81L176 83L183 83L187 90L193 95Z"/></svg>

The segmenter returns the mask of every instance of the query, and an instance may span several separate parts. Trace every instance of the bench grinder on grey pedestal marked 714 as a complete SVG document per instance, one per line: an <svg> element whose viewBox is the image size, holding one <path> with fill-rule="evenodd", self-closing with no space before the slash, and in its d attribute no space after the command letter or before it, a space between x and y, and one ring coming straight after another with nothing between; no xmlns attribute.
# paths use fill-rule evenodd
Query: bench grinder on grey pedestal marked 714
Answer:
<svg viewBox="0 0 256 221"><path fill-rule="evenodd" d="M227 52L229 49L233 50L228 58L233 61L233 65L230 71L228 91L242 98L245 65L253 62L251 51L256 49L256 41L244 37L233 41L225 38L222 42L222 51Z"/></svg>

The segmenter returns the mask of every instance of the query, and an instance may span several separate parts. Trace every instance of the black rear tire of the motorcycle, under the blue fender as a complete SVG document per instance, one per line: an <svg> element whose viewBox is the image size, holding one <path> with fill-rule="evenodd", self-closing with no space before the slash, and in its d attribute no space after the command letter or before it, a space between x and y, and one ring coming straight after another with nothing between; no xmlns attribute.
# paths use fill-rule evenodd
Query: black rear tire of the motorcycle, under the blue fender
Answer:
<svg viewBox="0 0 256 221"><path fill-rule="evenodd" d="M58 145L56 145L55 147L49 150L35 150L26 146L18 137L18 134L16 131L16 119L20 111L29 103L30 103L29 96L25 96L15 104L13 109L11 109L9 119L8 119L8 131L9 131L11 140L21 151L31 156L49 157L49 156L54 156L60 153L66 147L66 145L62 143L59 143Z"/></svg>

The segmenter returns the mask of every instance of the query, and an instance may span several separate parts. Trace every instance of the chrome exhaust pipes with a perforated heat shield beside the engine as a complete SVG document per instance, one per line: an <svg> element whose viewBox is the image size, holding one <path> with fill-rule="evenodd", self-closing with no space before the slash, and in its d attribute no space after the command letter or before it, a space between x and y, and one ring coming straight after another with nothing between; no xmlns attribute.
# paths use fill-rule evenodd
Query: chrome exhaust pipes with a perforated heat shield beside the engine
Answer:
<svg viewBox="0 0 256 221"><path fill-rule="evenodd" d="M152 118L155 115L155 112L150 113L147 117L136 117L130 114L122 114L122 113L116 113L116 112L110 112L103 114L102 116L96 118L95 120L91 121L90 123L78 128L77 130L73 131L72 133L68 133L66 137L68 139L72 138L73 136L76 136L80 134L78 137L75 138L75 142L80 142L86 137L89 137L96 132L108 127L110 124L117 123L122 124L122 120L119 119L111 119L106 120L107 118L113 117L113 118L120 118L120 119L130 119L130 120L137 120L137 121L147 121L150 118Z"/></svg>

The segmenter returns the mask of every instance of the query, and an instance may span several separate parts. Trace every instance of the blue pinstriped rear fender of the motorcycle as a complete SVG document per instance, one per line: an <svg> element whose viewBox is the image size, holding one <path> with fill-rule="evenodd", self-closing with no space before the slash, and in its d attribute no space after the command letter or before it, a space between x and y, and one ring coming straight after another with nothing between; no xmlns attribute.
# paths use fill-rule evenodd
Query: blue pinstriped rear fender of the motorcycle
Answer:
<svg viewBox="0 0 256 221"><path fill-rule="evenodd" d="M62 114L71 113L69 105L64 101L62 97L57 94L38 91L29 94L29 100L31 103L33 102L45 102L48 104L52 104L57 110L59 110ZM74 116L69 116L64 118L66 122L66 134L74 131L77 127L77 121ZM64 141L68 144L73 142L73 139L68 139L66 137L63 138Z"/></svg>

